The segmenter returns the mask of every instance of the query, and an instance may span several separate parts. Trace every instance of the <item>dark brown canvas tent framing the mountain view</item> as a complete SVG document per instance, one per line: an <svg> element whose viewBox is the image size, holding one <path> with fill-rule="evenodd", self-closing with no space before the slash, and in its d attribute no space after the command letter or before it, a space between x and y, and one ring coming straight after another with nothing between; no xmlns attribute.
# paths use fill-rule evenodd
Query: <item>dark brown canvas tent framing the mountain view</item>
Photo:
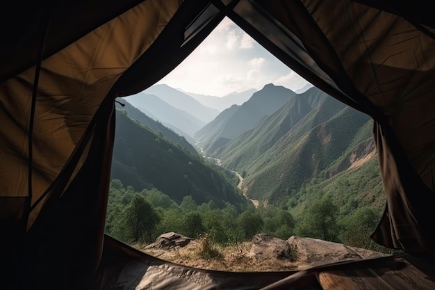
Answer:
<svg viewBox="0 0 435 290"><path fill-rule="evenodd" d="M373 118L387 205L372 239L434 258L431 8L419 0L2 3L1 289L321 289L310 271L199 271L104 236L115 97L156 83L225 16Z"/></svg>

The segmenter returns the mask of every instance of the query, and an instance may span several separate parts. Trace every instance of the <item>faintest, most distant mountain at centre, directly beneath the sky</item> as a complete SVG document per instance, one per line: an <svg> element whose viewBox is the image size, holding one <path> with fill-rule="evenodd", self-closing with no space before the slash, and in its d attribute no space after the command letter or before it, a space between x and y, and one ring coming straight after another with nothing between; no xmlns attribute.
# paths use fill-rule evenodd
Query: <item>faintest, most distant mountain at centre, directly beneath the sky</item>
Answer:
<svg viewBox="0 0 435 290"><path fill-rule="evenodd" d="M184 91L183 91L184 92ZM185 92L198 102L209 108L215 108L217 111L224 111L233 105L241 105L246 102L256 92L254 88L243 92L231 92L223 97L195 94L194 92Z"/></svg>

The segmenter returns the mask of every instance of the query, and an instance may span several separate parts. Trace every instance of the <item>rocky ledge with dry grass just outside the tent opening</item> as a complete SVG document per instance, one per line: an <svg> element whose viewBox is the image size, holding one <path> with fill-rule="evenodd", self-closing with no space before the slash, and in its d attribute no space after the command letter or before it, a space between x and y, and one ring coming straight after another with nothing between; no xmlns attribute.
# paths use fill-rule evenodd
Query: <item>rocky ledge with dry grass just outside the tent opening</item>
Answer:
<svg viewBox="0 0 435 290"><path fill-rule="evenodd" d="M169 232L151 245L138 249L173 263L219 271L299 271L340 261L385 256L342 243L299 236L284 241L268 234L257 234L252 241L237 245L217 245L216 250L222 255L214 259L199 256L200 248L201 240Z"/></svg>

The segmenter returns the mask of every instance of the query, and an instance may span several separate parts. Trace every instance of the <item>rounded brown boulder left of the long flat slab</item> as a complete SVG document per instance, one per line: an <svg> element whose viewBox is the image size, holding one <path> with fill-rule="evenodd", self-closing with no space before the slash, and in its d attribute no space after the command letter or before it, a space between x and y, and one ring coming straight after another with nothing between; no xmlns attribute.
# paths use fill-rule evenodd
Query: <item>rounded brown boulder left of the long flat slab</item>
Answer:
<svg viewBox="0 0 435 290"><path fill-rule="evenodd" d="M252 238L251 249L247 256L256 260L289 259L293 261L296 258L296 252L293 245L287 241L274 238L269 234L256 234Z"/></svg>

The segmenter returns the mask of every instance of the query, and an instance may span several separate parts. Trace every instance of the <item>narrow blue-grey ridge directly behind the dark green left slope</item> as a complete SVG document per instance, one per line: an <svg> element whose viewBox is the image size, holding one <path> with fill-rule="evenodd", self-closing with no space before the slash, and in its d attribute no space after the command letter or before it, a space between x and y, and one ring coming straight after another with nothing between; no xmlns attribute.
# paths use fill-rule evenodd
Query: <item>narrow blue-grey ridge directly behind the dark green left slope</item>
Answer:
<svg viewBox="0 0 435 290"><path fill-rule="evenodd" d="M135 108L133 105L131 105L129 102L126 102L125 99L122 100L122 104L124 106L121 106L120 104L115 104L115 106L118 109L122 109L126 111L129 118L133 120L138 120L141 124L144 124L148 126L150 129L154 130L157 134L161 133L163 136L168 138L174 143L177 143L181 146L183 146L186 150L190 151L193 154L197 154L197 150L192 146L191 143L189 143L186 138L180 136L179 134L175 133L171 129L165 127L161 122L157 122L151 118L149 118L145 113L142 113L138 108Z"/></svg>

